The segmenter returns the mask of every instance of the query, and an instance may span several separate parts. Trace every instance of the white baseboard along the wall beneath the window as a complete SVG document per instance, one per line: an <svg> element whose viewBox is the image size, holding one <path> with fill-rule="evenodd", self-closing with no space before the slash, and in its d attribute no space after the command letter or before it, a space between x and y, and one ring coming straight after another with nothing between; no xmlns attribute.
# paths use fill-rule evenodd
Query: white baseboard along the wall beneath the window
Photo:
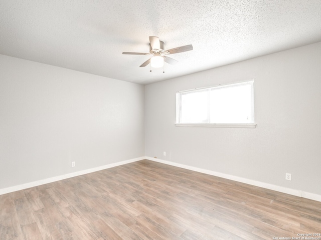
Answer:
<svg viewBox="0 0 321 240"><path fill-rule="evenodd" d="M270 184L270 183L266 183L266 182L256 181L256 180L252 180L252 179L248 179L248 178L244 178L244 177L239 177L239 176L234 176L234 175L229 175L229 174L225 174L225 173L221 173L221 172L217 172L217 171L206 170L203 168L189 166L189 165L185 165L185 164L181 164L181 163L177 163L177 162L173 162L173 161L162 160L162 159L158 159L158 158L154 158L154 157L145 156L145 159L160 162L160 163L165 163L168 165L177 166L177 167L181 167L181 168L185 168L185 169L189 169L189 170L193 170L193 171L198 171L198 172L206 173L206 174L213 175L213 176L219 176L219 177L223 177L226 179L247 183L250 185L259 186L259 187L267 188L270 190L291 194L294 196L300 196L300 197L304 197L304 198L308 198L308 199L312 199L312 200L316 200L316 201L321 201L321 195L318 195L315 193L292 189L292 188L288 188L288 187L284 187L284 186L278 186L278 185L274 185L274 184Z"/></svg>

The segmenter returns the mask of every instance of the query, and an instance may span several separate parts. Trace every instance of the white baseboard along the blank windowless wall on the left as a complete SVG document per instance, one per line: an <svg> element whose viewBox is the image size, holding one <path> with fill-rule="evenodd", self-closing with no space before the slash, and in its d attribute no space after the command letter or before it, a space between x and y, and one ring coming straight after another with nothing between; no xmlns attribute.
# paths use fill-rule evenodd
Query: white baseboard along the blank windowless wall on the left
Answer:
<svg viewBox="0 0 321 240"><path fill-rule="evenodd" d="M0 189L0 195L145 159L144 156Z"/></svg>

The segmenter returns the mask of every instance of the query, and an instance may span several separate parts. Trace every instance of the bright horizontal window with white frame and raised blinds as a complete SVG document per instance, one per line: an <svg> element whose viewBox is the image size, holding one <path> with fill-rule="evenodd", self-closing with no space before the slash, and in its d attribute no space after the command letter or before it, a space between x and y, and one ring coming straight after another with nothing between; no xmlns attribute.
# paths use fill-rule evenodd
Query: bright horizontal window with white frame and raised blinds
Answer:
<svg viewBox="0 0 321 240"><path fill-rule="evenodd" d="M177 125L255 127L254 80L180 91Z"/></svg>

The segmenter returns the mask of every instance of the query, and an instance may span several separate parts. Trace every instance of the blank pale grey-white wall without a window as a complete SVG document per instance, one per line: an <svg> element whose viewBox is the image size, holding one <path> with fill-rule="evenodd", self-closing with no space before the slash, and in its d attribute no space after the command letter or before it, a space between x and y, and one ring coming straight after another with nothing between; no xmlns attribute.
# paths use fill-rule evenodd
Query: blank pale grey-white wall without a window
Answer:
<svg viewBox="0 0 321 240"><path fill-rule="evenodd" d="M0 189L144 155L144 86L5 55L0 74Z"/></svg>

